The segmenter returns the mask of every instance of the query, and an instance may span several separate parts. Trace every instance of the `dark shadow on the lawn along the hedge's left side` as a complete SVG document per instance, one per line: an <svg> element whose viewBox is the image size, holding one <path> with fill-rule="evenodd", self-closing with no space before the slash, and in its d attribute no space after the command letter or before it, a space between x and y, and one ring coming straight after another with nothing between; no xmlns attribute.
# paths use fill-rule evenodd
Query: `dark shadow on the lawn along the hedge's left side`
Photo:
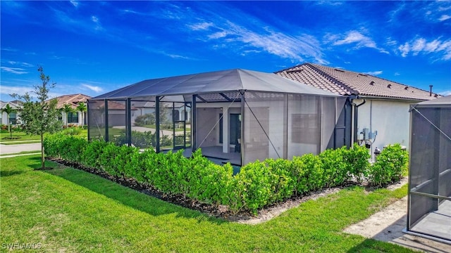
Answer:
<svg viewBox="0 0 451 253"><path fill-rule="evenodd" d="M54 162L53 167L58 167L58 164ZM211 223L221 224L228 223L223 219L218 219L213 216L202 214L202 212L180 207L163 200L159 200L156 197L140 193L137 190L121 186L118 183L104 179L101 176L90 174L87 171L81 171L78 169L68 168L66 169L53 169L44 170L43 172L59 176L62 179L66 179L79 186L92 190L95 193L99 193L112 200L121 202L123 205L132 207L133 209L146 212L152 216L176 214L177 217L183 217L187 219L197 219L200 221L209 221Z"/></svg>

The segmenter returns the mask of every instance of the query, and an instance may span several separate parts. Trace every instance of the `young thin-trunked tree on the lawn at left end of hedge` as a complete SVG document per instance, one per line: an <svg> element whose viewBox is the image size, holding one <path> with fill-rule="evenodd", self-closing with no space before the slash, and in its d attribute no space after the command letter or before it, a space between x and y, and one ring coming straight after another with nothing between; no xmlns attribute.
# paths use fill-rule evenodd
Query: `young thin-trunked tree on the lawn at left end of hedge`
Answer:
<svg viewBox="0 0 451 253"><path fill-rule="evenodd" d="M58 101L56 99L47 100L50 89L54 88L56 83L50 82L50 77L44 74L41 66L37 71L39 71L39 79L42 82L40 86L35 85L35 91L32 91L37 95L37 101L33 101L29 93L25 93L24 96L18 96L18 94L11 96L24 101L20 117L25 133L41 136L41 168L45 169L44 133L52 134L61 130L61 122L58 120L59 112L56 108Z"/></svg>

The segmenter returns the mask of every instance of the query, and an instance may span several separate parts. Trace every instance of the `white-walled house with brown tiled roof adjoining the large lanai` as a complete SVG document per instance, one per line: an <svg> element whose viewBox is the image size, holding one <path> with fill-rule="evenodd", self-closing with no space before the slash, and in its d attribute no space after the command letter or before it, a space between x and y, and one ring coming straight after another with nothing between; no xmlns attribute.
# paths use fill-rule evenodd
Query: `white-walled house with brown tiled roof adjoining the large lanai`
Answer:
<svg viewBox="0 0 451 253"><path fill-rule="evenodd" d="M276 74L348 97L352 105L352 142L371 149L390 143L409 146L409 105L438 94L334 67L304 63Z"/></svg>

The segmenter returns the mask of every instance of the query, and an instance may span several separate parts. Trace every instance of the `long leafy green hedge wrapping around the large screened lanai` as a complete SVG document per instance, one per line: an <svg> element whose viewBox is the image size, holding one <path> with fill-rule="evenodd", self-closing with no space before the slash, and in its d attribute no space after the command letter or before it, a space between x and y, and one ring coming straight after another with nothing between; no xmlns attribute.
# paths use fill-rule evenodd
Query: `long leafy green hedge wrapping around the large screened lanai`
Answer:
<svg viewBox="0 0 451 253"><path fill-rule="evenodd" d="M82 164L118 176L149 183L163 193L183 194L214 205L227 205L232 212L254 214L292 196L325 187L342 186L352 180L369 179L375 186L399 180L407 165L407 153L399 145L385 148L378 162L369 164L366 148L326 150L292 160L267 159L246 164L233 175L230 164L210 162L198 149L192 157L177 153L140 152L138 148L102 141L88 142L61 134L44 139L50 157Z"/></svg>

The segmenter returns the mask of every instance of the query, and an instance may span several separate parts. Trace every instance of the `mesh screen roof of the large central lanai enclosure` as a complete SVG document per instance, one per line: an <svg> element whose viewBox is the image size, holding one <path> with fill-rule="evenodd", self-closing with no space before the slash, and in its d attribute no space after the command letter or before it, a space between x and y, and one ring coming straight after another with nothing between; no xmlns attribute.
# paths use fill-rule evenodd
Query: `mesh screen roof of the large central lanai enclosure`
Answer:
<svg viewBox="0 0 451 253"><path fill-rule="evenodd" d="M144 80L90 100L218 93L217 98L211 100L227 101L230 100L227 98L236 97L235 94L241 90L338 96L336 93L299 84L277 74L235 69ZM233 94L230 95L228 92ZM204 97L204 100L209 99Z"/></svg>

